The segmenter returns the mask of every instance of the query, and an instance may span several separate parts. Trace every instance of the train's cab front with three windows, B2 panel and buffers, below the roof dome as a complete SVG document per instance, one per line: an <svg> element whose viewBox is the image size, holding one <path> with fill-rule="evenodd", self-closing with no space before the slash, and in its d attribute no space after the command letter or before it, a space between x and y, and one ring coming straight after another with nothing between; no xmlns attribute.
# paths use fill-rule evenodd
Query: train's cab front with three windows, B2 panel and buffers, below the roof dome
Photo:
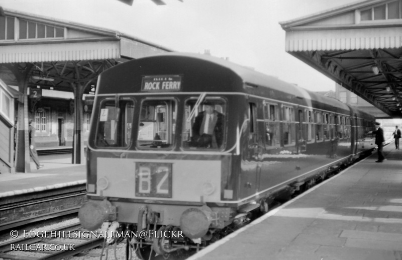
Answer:
<svg viewBox="0 0 402 260"><path fill-rule="evenodd" d="M87 151L89 201L79 211L84 228L145 230L148 236L131 237L133 243L165 254L199 248L214 229L228 225L234 212L222 201L234 198L228 187L237 140L227 130L235 122L228 120L228 99L149 95L96 103ZM162 231L181 236L158 240L155 233Z"/></svg>

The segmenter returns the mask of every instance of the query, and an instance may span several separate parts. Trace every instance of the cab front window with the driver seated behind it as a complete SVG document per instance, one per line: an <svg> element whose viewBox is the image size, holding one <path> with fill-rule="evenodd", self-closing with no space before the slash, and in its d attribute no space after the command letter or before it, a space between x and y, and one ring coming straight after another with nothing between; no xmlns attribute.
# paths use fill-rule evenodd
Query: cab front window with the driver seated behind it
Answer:
<svg viewBox="0 0 402 260"><path fill-rule="evenodd" d="M206 98L199 106L196 102L197 97L194 97L184 104L183 147L222 149L225 146L226 102L220 98Z"/></svg>

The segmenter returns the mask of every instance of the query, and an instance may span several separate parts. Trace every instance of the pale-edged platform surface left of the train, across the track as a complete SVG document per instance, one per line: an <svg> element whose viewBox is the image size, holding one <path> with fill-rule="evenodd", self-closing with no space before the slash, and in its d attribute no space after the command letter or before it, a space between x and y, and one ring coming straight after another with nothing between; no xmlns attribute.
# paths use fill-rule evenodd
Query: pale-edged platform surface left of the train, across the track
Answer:
<svg viewBox="0 0 402 260"><path fill-rule="evenodd" d="M86 182L85 164L71 164L71 154L39 156L43 168L36 169L31 159L30 173L0 174L0 199L33 192L35 189L53 189Z"/></svg>

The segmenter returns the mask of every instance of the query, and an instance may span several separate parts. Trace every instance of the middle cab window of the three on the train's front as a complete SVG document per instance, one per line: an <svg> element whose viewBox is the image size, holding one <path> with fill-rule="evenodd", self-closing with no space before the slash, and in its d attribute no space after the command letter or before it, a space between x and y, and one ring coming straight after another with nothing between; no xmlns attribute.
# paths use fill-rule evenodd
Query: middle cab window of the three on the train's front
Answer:
<svg viewBox="0 0 402 260"><path fill-rule="evenodd" d="M173 144L176 127L174 100L145 100L141 104L137 146L168 148Z"/></svg>

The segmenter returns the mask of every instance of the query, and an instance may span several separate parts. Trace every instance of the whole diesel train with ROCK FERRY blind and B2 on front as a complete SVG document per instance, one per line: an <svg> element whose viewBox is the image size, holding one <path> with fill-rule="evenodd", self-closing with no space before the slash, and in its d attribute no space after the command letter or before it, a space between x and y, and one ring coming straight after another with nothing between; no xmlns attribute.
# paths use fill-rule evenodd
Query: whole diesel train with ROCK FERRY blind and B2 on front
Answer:
<svg viewBox="0 0 402 260"><path fill-rule="evenodd" d="M98 78L80 222L142 259L203 248L374 148L373 122L207 55L128 61Z"/></svg>

